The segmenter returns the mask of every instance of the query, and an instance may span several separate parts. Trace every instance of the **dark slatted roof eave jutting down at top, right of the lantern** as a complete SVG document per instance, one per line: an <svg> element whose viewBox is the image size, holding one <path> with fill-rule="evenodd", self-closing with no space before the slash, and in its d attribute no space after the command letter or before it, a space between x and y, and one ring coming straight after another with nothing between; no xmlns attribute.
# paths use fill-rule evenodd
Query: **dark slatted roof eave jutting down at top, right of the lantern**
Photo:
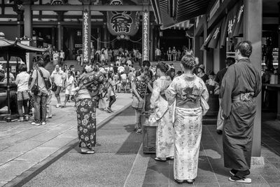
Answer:
<svg viewBox="0 0 280 187"><path fill-rule="evenodd" d="M155 18L162 29L207 12L211 0L151 0Z"/></svg>

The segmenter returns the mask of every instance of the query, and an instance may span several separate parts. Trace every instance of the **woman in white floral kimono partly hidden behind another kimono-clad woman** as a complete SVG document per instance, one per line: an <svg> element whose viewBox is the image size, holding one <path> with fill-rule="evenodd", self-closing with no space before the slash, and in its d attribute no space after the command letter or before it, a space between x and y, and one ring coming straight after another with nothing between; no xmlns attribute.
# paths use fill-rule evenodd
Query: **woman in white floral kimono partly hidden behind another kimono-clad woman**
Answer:
<svg viewBox="0 0 280 187"><path fill-rule="evenodd" d="M174 159L174 132L172 118L169 113L165 90L171 83L171 78L166 76L168 65L160 62L157 65L158 79L153 83L151 109L154 109L154 118L158 125L155 143L155 160L165 162Z"/></svg>

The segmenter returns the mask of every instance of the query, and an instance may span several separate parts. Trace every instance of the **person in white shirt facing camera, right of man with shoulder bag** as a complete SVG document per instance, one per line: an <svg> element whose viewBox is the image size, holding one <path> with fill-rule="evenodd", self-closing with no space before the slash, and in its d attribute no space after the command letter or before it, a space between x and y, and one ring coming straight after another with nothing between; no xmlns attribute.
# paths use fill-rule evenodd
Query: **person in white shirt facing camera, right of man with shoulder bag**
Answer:
<svg viewBox="0 0 280 187"><path fill-rule="evenodd" d="M55 66L55 71L52 71L52 75L50 77L52 78L52 83L55 83L55 85L57 85L57 90L55 90L55 97L57 98L56 107L58 108L61 104L59 93L62 90L62 85L63 85L64 80L65 80L65 74L60 69L59 65L57 64Z"/></svg>

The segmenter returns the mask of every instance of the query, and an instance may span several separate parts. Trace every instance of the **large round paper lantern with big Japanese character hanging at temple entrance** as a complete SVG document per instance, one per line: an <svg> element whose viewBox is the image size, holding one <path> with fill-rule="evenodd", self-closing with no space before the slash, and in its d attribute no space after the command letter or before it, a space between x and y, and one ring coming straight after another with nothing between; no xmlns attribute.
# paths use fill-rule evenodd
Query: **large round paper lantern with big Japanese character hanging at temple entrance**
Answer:
<svg viewBox="0 0 280 187"><path fill-rule="evenodd" d="M123 1L111 0L110 5L122 6ZM111 11L107 13L107 28L117 39L130 39L139 29L139 13L137 11Z"/></svg>

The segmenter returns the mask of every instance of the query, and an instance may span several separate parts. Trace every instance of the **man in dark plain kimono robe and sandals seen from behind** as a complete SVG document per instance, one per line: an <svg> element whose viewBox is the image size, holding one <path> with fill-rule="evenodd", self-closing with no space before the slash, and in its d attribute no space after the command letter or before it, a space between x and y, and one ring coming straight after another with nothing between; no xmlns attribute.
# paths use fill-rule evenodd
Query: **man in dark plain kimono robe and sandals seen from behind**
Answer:
<svg viewBox="0 0 280 187"><path fill-rule="evenodd" d="M230 168L230 181L251 183L250 174L253 140L253 122L256 111L255 97L261 90L260 72L249 57L250 41L237 45L237 63L228 68L221 85L223 109L223 155L225 167Z"/></svg>

